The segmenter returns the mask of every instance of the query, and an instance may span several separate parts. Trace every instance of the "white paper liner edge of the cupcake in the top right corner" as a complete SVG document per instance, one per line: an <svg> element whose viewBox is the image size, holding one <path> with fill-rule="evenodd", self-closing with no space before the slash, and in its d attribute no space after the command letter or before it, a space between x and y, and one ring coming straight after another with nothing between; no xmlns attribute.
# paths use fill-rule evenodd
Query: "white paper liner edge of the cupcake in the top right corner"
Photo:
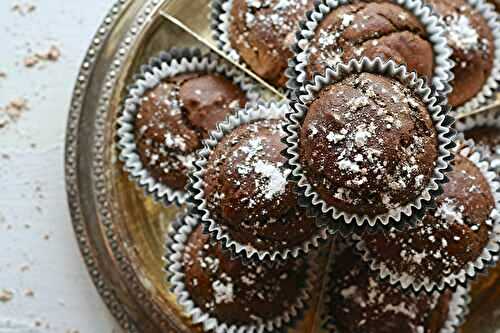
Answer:
<svg viewBox="0 0 500 333"><path fill-rule="evenodd" d="M467 113L474 109L490 104L496 100L496 93L500 87L500 16L492 4L484 0L468 0L469 5L484 17L493 33L495 47L493 68L490 77L481 91L464 105L456 108L456 112Z"/></svg>

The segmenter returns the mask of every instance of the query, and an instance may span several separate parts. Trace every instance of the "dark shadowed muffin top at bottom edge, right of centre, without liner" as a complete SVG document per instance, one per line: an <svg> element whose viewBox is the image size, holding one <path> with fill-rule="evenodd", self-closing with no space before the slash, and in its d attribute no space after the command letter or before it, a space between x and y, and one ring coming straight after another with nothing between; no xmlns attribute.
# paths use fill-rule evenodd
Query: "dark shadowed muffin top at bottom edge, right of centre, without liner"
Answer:
<svg viewBox="0 0 500 333"><path fill-rule="evenodd" d="M366 263L346 248L336 255L330 281L329 315L335 332L439 333L451 293L413 295L379 281Z"/></svg>

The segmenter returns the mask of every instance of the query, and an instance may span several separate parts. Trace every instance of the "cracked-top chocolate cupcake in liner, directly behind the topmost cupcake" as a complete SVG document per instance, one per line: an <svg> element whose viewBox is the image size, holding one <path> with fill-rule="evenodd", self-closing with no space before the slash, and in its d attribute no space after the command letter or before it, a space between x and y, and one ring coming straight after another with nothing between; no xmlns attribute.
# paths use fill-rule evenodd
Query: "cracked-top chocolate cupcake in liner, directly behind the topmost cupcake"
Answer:
<svg viewBox="0 0 500 333"><path fill-rule="evenodd" d="M288 70L295 93L326 67L362 57L392 59L451 91L444 28L422 1L322 1L300 26Z"/></svg>

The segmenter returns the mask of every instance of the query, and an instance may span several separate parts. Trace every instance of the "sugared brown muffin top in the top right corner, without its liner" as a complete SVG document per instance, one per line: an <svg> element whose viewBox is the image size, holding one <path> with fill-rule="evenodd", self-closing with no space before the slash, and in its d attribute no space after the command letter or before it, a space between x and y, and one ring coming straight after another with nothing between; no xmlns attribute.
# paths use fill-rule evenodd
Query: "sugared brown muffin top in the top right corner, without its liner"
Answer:
<svg viewBox="0 0 500 333"><path fill-rule="evenodd" d="M495 44L487 20L467 0L429 0L442 17L455 79L451 82L451 106L461 106L476 96L490 77Z"/></svg>

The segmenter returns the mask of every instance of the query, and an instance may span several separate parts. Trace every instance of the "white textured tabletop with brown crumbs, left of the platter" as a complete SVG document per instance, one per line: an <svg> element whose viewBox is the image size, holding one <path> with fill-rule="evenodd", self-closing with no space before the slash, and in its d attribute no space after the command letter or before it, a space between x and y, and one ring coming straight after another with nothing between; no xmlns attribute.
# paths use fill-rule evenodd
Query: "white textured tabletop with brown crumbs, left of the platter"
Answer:
<svg viewBox="0 0 500 333"><path fill-rule="evenodd" d="M34 12L11 10L26 2L36 5ZM30 106L0 128L0 295L3 289L14 293L0 301L0 333L120 332L78 252L63 167L76 74L113 2L0 0L0 72L7 74L0 78L0 108L17 97ZM51 45L62 52L57 62L24 66L26 56Z"/></svg>

